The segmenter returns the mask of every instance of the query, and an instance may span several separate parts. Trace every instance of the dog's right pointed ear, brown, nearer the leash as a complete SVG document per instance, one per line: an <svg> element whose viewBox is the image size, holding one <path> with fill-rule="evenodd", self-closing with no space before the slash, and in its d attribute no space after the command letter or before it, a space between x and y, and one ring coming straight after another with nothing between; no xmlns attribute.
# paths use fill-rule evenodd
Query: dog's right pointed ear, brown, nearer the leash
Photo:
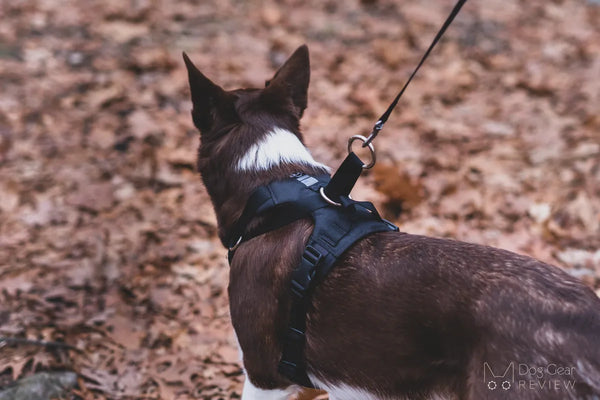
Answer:
<svg viewBox="0 0 600 400"><path fill-rule="evenodd" d="M273 78L266 82L265 97L277 98L287 95L291 98L298 117L302 116L307 104L310 62L308 47L302 45L279 68Z"/></svg>

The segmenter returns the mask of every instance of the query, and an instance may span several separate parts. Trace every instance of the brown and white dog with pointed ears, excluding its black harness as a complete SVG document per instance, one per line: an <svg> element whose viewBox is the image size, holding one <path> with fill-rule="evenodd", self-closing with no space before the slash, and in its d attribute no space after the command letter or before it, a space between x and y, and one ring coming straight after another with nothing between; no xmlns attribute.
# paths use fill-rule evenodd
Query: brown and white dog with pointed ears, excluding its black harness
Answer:
<svg viewBox="0 0 600 400"><path fill-rule="evenodd" d="M299 129L306 46L263 89L225 91L184 59L221 238L258 186L329 171ZM231 263L243 400L298 389L277 365L290 274L311 229L299 220L257 236ZM372 234L316 288L306 338L308 375L330 399L600 399L600 299L559 268L491 247Z"/></svg>

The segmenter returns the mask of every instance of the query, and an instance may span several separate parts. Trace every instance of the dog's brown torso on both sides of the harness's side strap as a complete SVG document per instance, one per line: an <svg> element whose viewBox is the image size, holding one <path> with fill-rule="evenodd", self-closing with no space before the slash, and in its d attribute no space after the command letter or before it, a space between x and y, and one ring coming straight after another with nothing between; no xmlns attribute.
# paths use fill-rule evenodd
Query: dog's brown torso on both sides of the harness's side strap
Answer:
<svg viewBox="0 0 600 400"><path fill-rule="evenodd" d="M265 385L281 381L272 332L285 326L289 266L302 251L295 236L309 226L257 238L232 264L244 364ZM271 256L279 262L265 265ZM275 284L249 290L253 280ZM318 286L306 358L311 380L334 398L594 399L598 343L600 299L560 269L491 247L381 233Z"/></svg>

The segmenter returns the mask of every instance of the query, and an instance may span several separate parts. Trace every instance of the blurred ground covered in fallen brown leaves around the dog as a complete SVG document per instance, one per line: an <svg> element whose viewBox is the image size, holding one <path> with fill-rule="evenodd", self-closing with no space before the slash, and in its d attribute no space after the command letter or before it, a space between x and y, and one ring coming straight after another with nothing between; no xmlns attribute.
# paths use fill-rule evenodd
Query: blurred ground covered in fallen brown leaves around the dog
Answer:
<svg viewBox="0 0 600 400"><path fill-rule="evenodd" d="M303 130L335 167L451 6L2 1L0 387L74 371L71 397L239 398L181 51L232 89L307 43ZM405 231L529 254L598 290L599 37L596 1L470 1L354 197Z"/></svg>

